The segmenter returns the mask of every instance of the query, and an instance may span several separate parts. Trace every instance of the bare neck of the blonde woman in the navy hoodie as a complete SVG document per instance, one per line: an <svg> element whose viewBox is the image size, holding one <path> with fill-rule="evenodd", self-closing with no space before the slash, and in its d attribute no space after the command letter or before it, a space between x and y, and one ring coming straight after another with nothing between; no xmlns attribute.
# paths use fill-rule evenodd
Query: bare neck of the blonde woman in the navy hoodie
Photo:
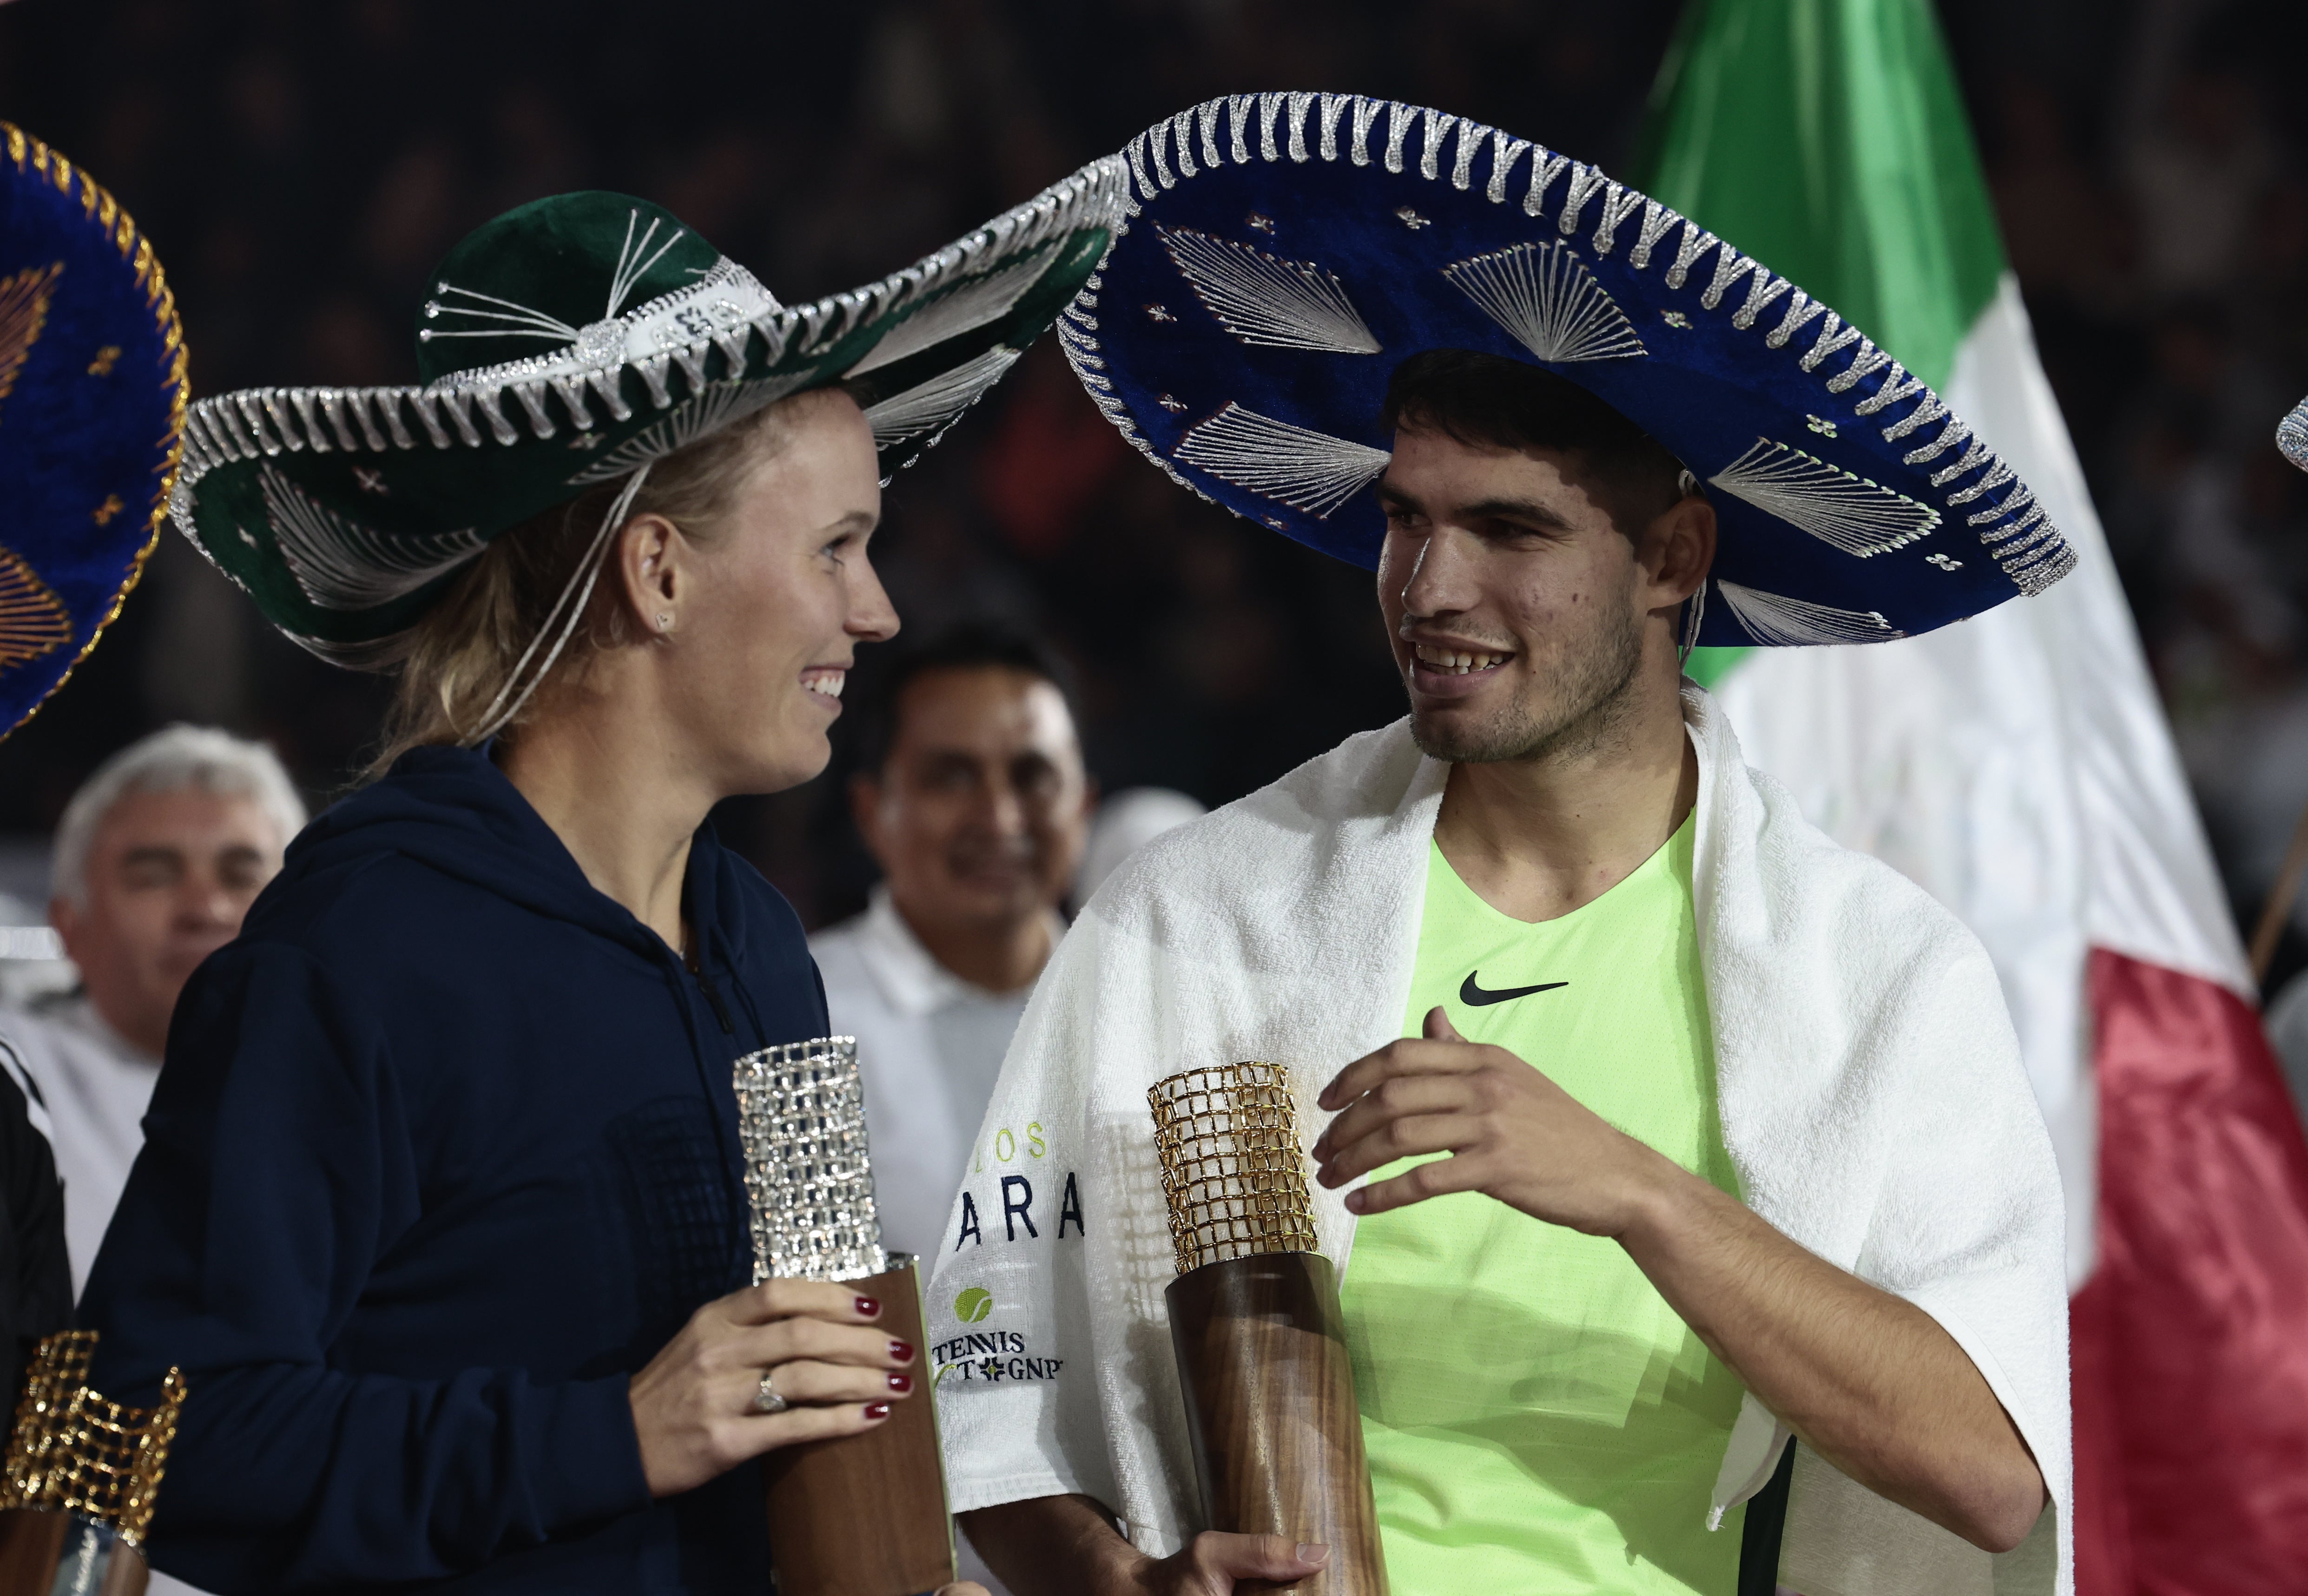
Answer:
<svg viewBox="0 0 2308 1596"><path fill-rule="evenodd" d="M690 837L715 793L681 780L688 761L653 720L602 699L554 706L501 745L499 766L586 881L681 950Z"/></svg>

